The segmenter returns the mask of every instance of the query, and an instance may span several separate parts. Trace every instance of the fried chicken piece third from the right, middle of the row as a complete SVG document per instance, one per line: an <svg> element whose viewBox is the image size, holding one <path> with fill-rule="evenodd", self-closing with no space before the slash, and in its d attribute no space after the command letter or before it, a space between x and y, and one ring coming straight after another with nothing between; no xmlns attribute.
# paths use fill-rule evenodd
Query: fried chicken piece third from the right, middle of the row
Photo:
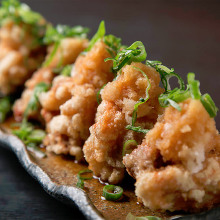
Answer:
<svg viewBox="0 0 220 220"><path fill-rule="evenodd" d="M60 83L40 96L42 112L48 121L52 118L50 113L53 114L60 101L64 101L60 105L60 114L47 124L48 135L44 144L48 151L70 154L78 161L83 159L82 146L89 136L89 127L94 123L98 106L96 94L113 79L112 63L104 62L107 57L110 57L107 46L103 41L97 42L86 55L77 58L72 76L67 79L71 86L65 88L65 84ZM71 97L59 101L58 91Z"/></svg>

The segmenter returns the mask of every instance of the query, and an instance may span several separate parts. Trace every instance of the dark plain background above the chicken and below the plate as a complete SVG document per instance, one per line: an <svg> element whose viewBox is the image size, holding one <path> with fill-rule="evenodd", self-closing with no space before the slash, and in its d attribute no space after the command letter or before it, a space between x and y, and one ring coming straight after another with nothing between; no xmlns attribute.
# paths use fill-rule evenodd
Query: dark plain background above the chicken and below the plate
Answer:
<svg viewBox="0 0 220 220"><path fill-rule="evenodd" d="M54 24L83 25L90 37L101 20L108 34L124 44L144 43L148 59L174 67L184 79L195 72L201 91L220 108L220 1L212 0L26 0ZM220 114L216 117L220 128ZM20 166L15 156L0 148L0 219L83 219L47 195Z"/></svg>

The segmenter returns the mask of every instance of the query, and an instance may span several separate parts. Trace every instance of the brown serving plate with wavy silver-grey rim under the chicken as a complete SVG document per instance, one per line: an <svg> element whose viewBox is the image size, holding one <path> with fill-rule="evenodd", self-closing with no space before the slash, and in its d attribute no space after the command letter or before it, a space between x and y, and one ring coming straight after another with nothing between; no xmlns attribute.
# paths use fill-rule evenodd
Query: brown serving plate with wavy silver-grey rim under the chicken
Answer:
<svg viewBox="0 0 220 220"><path fill-rule="evenodd" d="M53 154L47 155L46 159L39 159L28 152L24 144L16 136L11 135L4 126L0 127L0 147L13 151L25 170L49 195L70 206L77 206L87 219L125 219L130 211L134 215L157 215L170 220L220 219L220 207L195 215L152 212L137 204L133 189L125 190L125 196L120 202L103 201L102 184L97 179L86 182L85 191L75 187L74 174L82 168L85 169L86 165L74 163L72 158Z"/></svg>

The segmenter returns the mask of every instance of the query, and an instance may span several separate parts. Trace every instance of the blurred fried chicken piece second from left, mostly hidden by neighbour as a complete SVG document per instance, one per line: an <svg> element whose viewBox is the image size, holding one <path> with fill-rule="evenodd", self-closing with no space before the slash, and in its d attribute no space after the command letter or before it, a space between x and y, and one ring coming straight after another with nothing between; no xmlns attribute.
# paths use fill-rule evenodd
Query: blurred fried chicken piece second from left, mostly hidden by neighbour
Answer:
<svg viewBox="0 0 220 220"><path fill-rule="evenodd" d="M56 76L53 69L59 64L61 64L61 62L62 62L61 64L62 66L74 63L77 56L87 47L87 45L88 45L88 41L86 39L65 38L61 41L60 46L56 54L54 55L52 61L48 65L48 67L40 68L38 71L36 71L33 74L32 78L25 83L26 89L22 93L21 98L15 102L13 107L14 116L17 121L20 121L22 119L24 111L27 108L28 102L33 94L35 86L40 82L51 84L54 77ZM52 50L53 50L53 46L50 46L46 60L50 57ZM63 82L63 80L61 80L61 82ZM68 96L68 98L70 98L70 95ZM63 104L63 102L61 103L58 102L57 103L58 107L61 104ZM57 108L56 110L59 110L59 108ZM29 114L29 118L34 118L39 120L40 118L39 112L40 112L39 110L35 112L31 112Z"/></svg>

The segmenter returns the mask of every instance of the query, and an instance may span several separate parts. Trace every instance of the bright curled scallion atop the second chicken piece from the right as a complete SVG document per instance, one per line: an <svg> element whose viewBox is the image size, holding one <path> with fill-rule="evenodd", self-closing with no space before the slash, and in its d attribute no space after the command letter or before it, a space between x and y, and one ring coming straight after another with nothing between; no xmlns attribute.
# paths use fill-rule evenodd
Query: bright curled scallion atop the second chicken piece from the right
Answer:
<svg viewBox="0 0 220 220"><path fill-rule="evenodd" d="M115 58L107 58L105 61L112 60L113 73L117 73L126 64L131 62L142 62L146 59L147 53L145 47L141 41L134 42L130 47L118 52Z"/></svg>

